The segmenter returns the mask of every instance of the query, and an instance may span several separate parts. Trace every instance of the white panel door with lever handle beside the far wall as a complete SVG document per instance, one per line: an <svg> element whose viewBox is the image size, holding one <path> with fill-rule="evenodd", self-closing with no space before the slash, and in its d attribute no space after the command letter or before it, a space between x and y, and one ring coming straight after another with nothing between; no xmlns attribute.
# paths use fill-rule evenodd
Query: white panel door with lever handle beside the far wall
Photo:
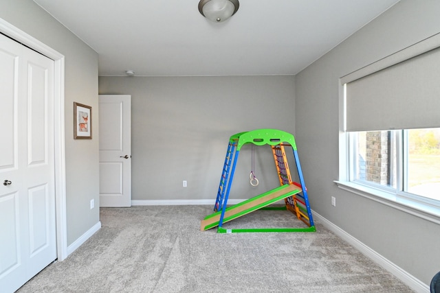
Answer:
<svg viewBox="0 0 440 293"><path fill-rule="evenodd" d="M131 207L131 95L99 96L100 207Z"/></svg>

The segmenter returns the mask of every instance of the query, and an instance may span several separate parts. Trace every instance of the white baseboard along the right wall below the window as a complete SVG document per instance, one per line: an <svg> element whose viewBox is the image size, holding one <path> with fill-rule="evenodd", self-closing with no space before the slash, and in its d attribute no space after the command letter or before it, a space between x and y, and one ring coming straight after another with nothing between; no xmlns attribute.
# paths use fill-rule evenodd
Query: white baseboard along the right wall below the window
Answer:
<svg viewBox="0 0 440 293"><path fill-rule="evenodd" d="M430 288L429 285L426 285L416 277L412 276L412 274L409 274L406 272L406 270L400 268L392 261L386 259L379 253L377 253L375 250L371 249L369 246L366 246L362 242L360 242L355 237L351 236L346 231L342 230L326 218L322 217L322 215L316 213L315 211L312 211L313 216L318 220L322 225L324 225L326 228L328 228L330 231L338 235L338 237L344 239L346 242L348 242L351 246L358 249L363 255L366 257L369 257L375 263L382 266L385 270L388 270L391 274L393 274L397 279L404 282L406 285L408 285L412 290L415 290L416 292L429 292Z"/></svg>

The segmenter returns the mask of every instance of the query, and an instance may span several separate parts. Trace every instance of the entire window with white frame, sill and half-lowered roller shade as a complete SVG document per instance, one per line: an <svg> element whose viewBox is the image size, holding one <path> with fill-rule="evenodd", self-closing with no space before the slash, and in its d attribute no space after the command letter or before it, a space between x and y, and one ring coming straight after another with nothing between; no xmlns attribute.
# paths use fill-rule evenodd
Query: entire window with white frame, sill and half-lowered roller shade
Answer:
<svg viewBox="0 0 440 293"><path fill-rule="evenodd" d="M340 78L338 186L440 224L440 34Z"/></svg>

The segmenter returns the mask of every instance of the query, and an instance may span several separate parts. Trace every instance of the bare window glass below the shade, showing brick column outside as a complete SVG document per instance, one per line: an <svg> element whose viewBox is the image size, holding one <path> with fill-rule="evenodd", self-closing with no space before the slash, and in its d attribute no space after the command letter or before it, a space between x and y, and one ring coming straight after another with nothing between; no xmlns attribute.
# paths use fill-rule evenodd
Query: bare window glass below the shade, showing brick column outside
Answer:
<svg viewBox="0 0 440 293"><path fill-rule="evenodd" d="M348 135L350 182L440 207L440 128Z"/></svg>

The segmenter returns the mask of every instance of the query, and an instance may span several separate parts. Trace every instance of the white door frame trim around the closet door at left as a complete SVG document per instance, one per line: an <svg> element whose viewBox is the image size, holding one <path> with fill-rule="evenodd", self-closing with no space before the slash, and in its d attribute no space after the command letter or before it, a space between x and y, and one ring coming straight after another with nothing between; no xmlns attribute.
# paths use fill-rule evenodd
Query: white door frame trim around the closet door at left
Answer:
<svg viewBox="0 0 440 293"><path fill-rule="evenodd" d="M56 252L58 261L68 256L67 215L66 215L66 175L65 175L65 115L64 78L65 57L58 51L23 32L0 18L0 32L19 43L54 60L54 164L55 164L55 213Z"/></svg>

